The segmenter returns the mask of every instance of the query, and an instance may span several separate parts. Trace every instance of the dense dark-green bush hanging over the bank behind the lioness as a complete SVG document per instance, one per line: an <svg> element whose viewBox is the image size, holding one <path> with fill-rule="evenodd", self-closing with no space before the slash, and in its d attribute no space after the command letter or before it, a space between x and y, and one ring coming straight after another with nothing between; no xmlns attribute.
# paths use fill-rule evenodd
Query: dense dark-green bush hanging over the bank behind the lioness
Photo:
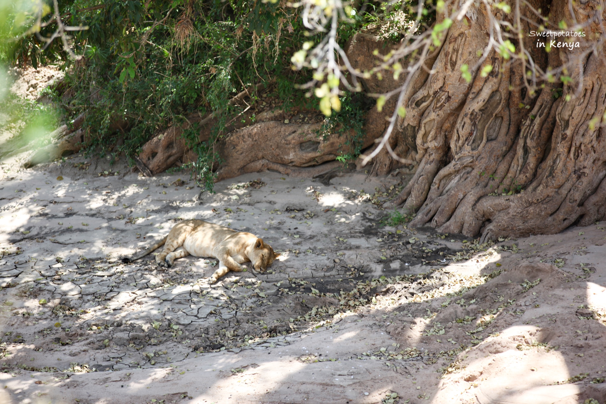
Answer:
<svg viewBox="0 0 606 404"><path fill-rule="evenodd" d="M285 103L308 102L293 93L293 82L305 76L290 69L287 57L302 39L295 12L244 0L150 1L147 8L110 0L104 8L76 13L71 24L90 29L76 33L76 50L85 58L68 71L65 91L75 96L65 108L73 115L87 111L91 153L127 156L193 113L215 113L219 122L207 142L198 142L195 125L183 134L198 154L189 167L210 190L218 162L214 146L228 118L242 111L228 104L235 94L274 79ZM122 133L116 123L128 129Z"/></svg>

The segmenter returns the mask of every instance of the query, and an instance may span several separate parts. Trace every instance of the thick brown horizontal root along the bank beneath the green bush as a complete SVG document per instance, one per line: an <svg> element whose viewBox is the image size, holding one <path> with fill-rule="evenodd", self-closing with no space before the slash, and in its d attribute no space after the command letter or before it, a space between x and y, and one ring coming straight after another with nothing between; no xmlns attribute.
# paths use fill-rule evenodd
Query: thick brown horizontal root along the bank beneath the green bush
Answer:
<svg viewBox="0 0 606 404"><path fill-rule="evenodd" d="M241 93L242 94L242 93ZM241 97L239 94L236 98ZM336 157L351 152L347 137L353 133L332 133L324 136L322 120L316 110L246 111L232 117L219 137L215 150L221 164L217 165L217 180L256 171L275 170L290 176L316 176L341 165ZM304 113L311 123L291 122L286 119ZM299 119L301 121L301 119ZM199 124L198 141L207 141L217 118L210 114L202 119L193 114L181 125L175 125L148 141L135 159L139 170L147 176L161 173L178 162L196 161L182 133L192 124ZM365 132L362 147L375 141L376 133Z"/></svg>

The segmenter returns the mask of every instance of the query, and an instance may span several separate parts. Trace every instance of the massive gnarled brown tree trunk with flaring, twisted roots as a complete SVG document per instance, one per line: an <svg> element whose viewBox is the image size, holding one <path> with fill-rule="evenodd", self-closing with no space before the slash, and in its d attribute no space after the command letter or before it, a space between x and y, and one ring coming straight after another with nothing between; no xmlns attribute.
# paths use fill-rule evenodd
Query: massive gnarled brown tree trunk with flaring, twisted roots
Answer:
<svg viewBox="0 0 606 404"><path fill-rule="evenodd" d="M573 2L569 8L567 0L535 0L531 5L550 10L549 21L556 24L564 19L572 26L571 12L576 21L587 23L587 36L574 39L580 47L545 53L527 35L537 30L528 21L538 19L527 8L522 12L528 20L522 20L524 47L536 64L554 68L576 58L579 62L568 69L573 80L564 85L561 98L551 91L558 84L545 83L530 94L522 85L521 63L492 53L484 62L493 65L492 72L483 78L471 71L467 83L461 65L471 68L478 62L476 51L488 41L487 15L480 7L455 21L433 64L435 73L405 97L408 113L398 122L399 133L413 133L416 140L412 157L418 168L393 201L417 212L411 225L494 239L558 233L604 219L604 45L582 55L604 35L604 2ZM565 101L567 95L570 101ZM399 141L396 136L392 147ZM385 165L388 158L377 156L375 165Z"/></svg>

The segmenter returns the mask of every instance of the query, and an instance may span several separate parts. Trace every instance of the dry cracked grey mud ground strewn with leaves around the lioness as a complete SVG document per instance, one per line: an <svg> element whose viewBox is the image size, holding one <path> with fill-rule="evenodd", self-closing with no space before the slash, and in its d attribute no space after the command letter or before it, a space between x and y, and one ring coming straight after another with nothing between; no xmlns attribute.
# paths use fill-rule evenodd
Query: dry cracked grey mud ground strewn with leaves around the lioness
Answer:
<svg viewBox="0 0 606 404"><path fill-rule="evenodd" d="M0 177L0 402L606 400L606 226L478 245L381 227L398 177L259 173L208 194L184 173L17 163ZM212 259L121 262L191 218L282 256L215 285Z"/></svg>

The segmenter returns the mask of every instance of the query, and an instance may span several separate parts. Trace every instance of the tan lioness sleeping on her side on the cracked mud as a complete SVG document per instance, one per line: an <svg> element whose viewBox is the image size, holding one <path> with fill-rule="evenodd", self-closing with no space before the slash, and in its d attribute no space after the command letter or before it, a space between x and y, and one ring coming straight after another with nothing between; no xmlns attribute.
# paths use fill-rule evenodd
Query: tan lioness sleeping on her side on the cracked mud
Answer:
<svg viewBox="0 0 606 404"><path fill-rule="evenodd" d="M161 267L170 268L175 259L190 254L218 259L219 269L210 277L210 283L215 283L230 270L245 270L246 267L241 265L244 262L252 262L256 271L264 272L280 256L254 234L231 230L204 220L183 220L170 230L168 236L148 250L122 261L138 260L161 245L164 245L164 250L156 256L156 263Z"/></svg>

